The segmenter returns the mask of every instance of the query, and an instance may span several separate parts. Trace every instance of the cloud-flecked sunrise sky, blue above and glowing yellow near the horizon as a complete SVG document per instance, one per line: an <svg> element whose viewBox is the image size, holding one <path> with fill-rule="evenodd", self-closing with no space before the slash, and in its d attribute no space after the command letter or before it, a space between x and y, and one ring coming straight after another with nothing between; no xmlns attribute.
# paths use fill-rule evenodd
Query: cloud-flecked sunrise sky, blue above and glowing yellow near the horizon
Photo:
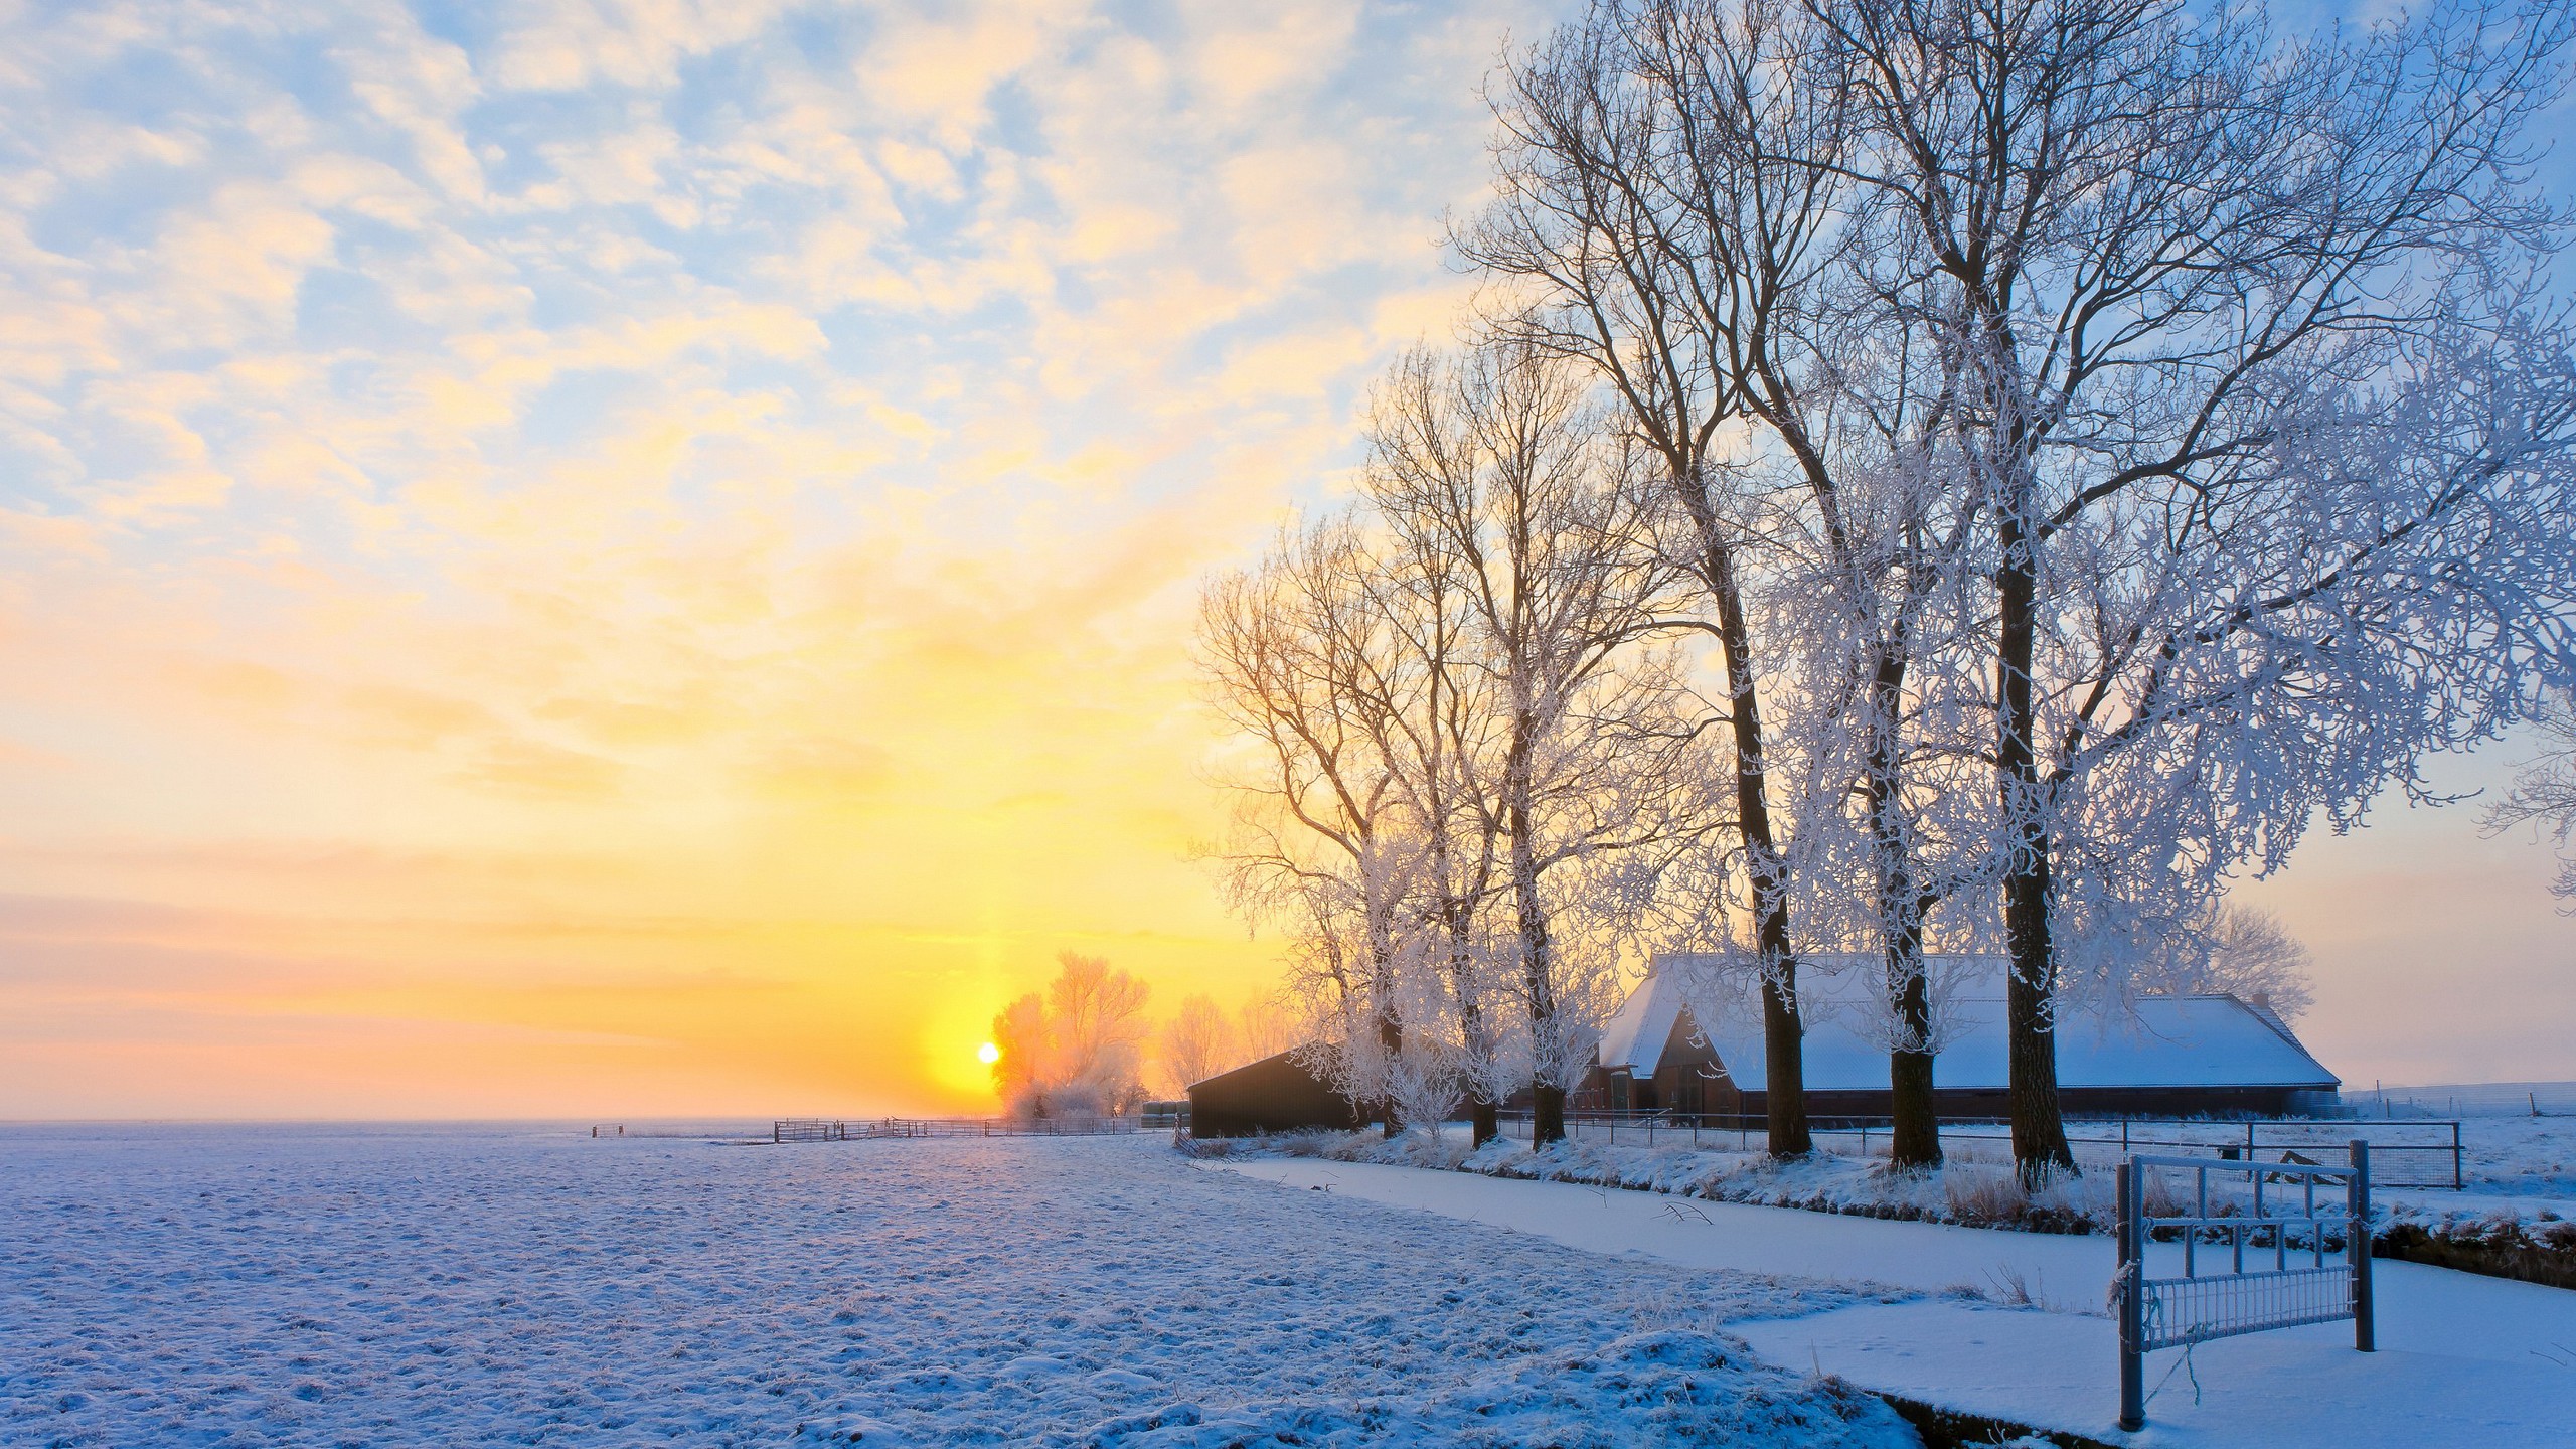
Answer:
<svg viewBox="0 0 2576 1449"><path fill-rule="evenodd" d="M0 5L0 1116L981 1111L1061 949L1262 993L1195 588L1458 315L1546 23ZM2576 1078L2550 871L2249 895L2347 1080Z"/></svg>

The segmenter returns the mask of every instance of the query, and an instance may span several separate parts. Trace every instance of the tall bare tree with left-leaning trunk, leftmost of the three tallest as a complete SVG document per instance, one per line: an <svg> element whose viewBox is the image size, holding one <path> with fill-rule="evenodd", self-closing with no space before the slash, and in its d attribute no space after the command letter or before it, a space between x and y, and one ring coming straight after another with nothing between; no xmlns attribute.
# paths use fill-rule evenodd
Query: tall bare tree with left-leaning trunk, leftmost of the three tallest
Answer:
<svg viewBox="0 0 2576 1449"><path fill-rule="evenodd" d="M1690 523L1726 681L1770 1150L1803 1155L1790 820L1762 719L1775 660L1749 603L1783 480L1739 469L1734 431L1770 423L1801 464L1788 498L1816 498L1806 405L1770 384L1798 379L1788 322L1832 263L1842 170L1819 152L1839 147L1842 101L1770 83L1795 62L1777 21L1772 5L1600 0L1512 57L1494 90L1497 201L1453 242L1502 284L1504 335L1597 371Z"/></svg>

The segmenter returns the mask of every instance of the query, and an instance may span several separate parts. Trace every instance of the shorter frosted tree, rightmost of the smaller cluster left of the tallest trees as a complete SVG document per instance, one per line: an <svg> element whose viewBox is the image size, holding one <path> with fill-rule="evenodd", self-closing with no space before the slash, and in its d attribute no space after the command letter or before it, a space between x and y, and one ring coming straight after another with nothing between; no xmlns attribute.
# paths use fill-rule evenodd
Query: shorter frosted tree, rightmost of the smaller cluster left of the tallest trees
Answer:
<svg viewBox="0 0 2576 1449"><path fill-rule="evenodd" d="M1368 500L1417 614L1458 619L1419 750L1435 766L1412 771L1445 789L1425 838L1453 841L1507 913L1479 949L1461 928L1476 900L1443 897L1440 951L1461 980L1479 954L1507 962L1494 985L1520 1011L1538 1142L1564 1134L1618 1006L1623 892L1723 822L1680 655L1651 647L1682 575L1631 464L1589 374L1525 343L1417 351L1370 410Z"/></svg>

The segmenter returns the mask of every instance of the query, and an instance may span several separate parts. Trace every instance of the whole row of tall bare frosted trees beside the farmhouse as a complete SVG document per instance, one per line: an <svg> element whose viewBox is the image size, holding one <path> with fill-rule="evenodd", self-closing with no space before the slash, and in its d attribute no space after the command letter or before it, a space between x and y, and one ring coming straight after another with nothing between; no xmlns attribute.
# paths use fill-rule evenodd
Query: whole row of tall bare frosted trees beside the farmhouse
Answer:
<svg viewBox="0 0 2576 1449"><path fill-rule="evenodd" d="M1229 884L1324 1067L1548 1137L1623 962L1690 946L1795 1155L1801 967L1862 951L1935 1160L1922 959L1991 949L2014 1155L2071 1171L2063 998L2576 673L2524 155L2571 26L1602 0L1510 57L1466 343L1206 590Z"/></svg>

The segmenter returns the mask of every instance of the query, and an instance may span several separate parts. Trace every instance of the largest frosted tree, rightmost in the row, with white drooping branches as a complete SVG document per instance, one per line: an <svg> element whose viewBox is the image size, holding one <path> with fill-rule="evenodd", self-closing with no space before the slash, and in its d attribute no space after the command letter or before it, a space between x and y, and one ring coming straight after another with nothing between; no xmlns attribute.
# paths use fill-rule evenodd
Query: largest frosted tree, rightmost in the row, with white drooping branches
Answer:
<svg viewBox="0 0 2576 1449"><path fill-rule="evenodd" d="M1811 0L1991 518L2012 1132L2056 998L2563 660L2568 338L2522 129L2571 15Z"/></svg>

